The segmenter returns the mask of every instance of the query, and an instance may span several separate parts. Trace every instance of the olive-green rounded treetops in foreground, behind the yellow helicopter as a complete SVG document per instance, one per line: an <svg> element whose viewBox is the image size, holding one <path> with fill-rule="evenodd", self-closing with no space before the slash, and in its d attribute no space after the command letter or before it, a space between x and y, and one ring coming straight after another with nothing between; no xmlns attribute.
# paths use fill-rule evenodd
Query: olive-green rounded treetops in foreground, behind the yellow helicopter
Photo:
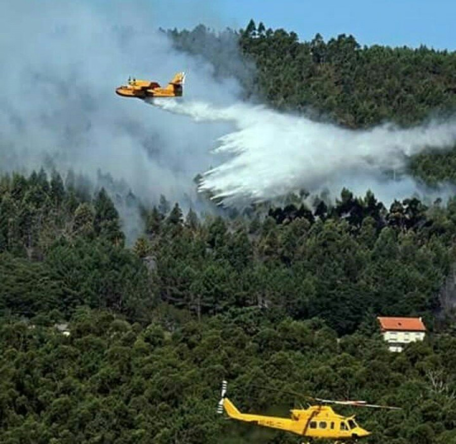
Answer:
<svg viewBox="0 0 456 444"><path fill-rule="evenodd" d="M23 322L0 324L0 437L5 444L291 444L296 436L222 420L222 378L239 408L288 415L292 396L375 399L398 412L353 412L366 442L447 444L456 439L456 339L435 337L402 354L380 338L336 340L315 321L261 309L204 322L159 310L147 327L112 314L76 312L70 335ZM297 401L297 399L296 399Z"/></svg>

